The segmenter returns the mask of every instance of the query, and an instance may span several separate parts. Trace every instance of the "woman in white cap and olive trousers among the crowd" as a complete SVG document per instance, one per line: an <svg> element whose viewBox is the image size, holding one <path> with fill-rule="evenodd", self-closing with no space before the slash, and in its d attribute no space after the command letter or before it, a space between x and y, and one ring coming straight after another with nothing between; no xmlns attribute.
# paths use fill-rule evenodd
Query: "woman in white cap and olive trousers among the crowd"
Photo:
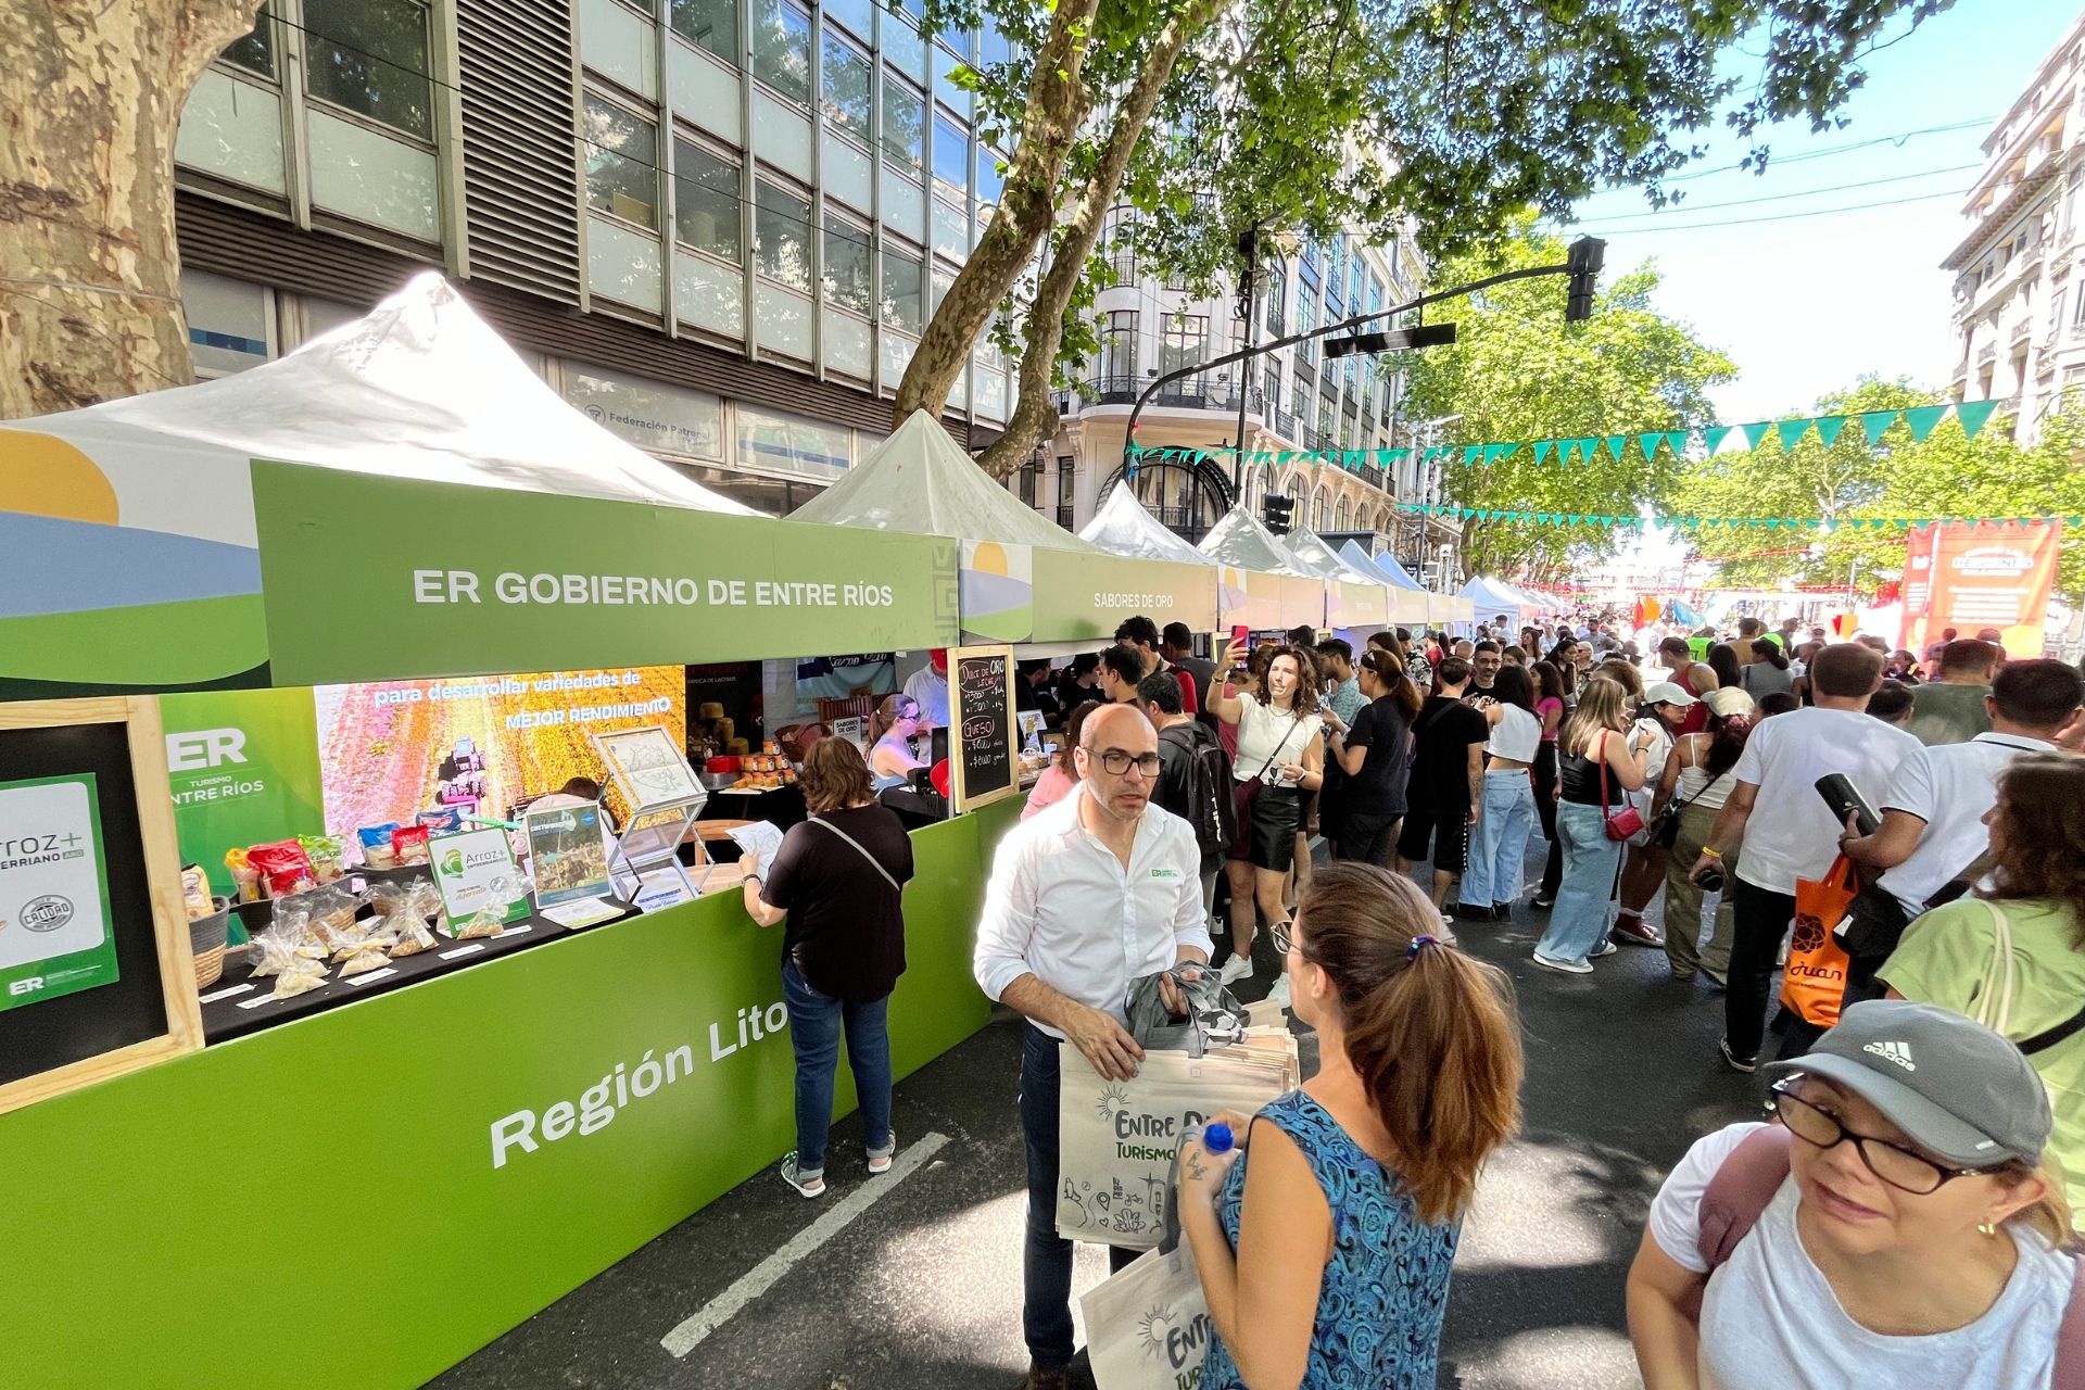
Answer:
<svg viewBox="0 0 2085 1390"><path fill-rule="evenodd" d="M1731 892L1726 886L1716 902L1716 925L1708 946L1701 946L1701 886L1691 871L1716 827L1716 813L1737 786L1737 759L1751 736L1751 696L1737 688L1712 690L1701 702L1708 704L1708 729L1681 734L1672 744L1666 771L1658 777L1651 823L1662 823L1658 817L1678 804L1678 827L1672 831L1672 852L1666 854L1666 961L1672 977L1693 979L1699 971L1720 990L1731 971L1731 936L1737 929ZM1724 850L1724 873L1737 865L1739 848L1743 846L1733 844Z"/></svg>

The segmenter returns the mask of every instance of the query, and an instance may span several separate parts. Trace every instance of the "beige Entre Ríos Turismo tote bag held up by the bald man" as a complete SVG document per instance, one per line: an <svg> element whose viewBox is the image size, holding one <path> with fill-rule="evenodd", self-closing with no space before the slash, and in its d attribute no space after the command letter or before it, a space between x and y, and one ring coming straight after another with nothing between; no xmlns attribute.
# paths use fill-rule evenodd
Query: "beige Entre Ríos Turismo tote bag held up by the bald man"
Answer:
<svg viewBox="0 0 2085 1390"><path fill-rule="evenodd" d="M1289 1029L1251 1029L1207 1057L1149 1050L1128 1082L1109 1082L1059 1044L1057 1234L1149 1250L1166 1221L1166 1182L1180 1136L1218 1111L1253 1115L1301 1084Z"/></svg>

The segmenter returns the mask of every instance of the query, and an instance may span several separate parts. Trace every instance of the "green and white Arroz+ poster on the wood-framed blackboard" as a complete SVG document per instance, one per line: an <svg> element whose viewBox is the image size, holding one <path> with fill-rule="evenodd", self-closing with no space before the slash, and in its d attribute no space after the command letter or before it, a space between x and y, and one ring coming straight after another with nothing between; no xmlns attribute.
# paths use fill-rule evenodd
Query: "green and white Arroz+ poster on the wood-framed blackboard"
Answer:
<svg viewBox="0 0 2085 1390"><path fill-rule="evenodd" d="M94 773L0 781L0 1011L115 979Z"/></svg>

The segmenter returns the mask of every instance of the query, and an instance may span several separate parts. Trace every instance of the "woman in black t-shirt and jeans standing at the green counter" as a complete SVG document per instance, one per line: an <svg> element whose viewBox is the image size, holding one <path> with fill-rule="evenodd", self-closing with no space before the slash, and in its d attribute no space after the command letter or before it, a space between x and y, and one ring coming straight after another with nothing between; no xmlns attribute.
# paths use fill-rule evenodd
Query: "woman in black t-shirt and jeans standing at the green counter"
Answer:
<svg viewBox="0 0 2085 1390"><path fill-rule="evenodd" d="M913 875L911 838L897 813L878 806L869 767L844 738L821 738L803 763L811 819L792 825L767 877L746 854L746 915L782 934L782 998L796 1050L796 1152L782 1182L803 1196L826 1194L826 1136L832 1073L847 1032L869 1173L888 1173L890 990L905 973L903 888Z"/></svg>

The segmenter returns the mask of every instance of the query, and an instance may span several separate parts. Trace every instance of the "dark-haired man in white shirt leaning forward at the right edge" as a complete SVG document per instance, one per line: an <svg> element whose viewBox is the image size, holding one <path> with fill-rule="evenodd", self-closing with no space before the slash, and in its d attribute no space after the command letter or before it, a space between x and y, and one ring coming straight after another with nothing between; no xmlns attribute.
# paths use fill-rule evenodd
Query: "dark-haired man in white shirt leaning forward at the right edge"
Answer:
<svg viewBox="0 0 2085 1390"><path fill-rule="evenodd" d="M1991 848L1985 815L1997 802L1997 777L2022 752L2058 752L2056 738L2079 717L2085 679L2062 661L2014 661L1983 698L1991 729L1966 744L1931 744L1897 763L1876 811L1883 823L1862 836L1847 817L1839 848L1862 865L1847 950L1847 1002L1879 998L1874 971L1914 917L1960 896L1966 871ZM1874 871L1881 869L1876 877ZM1866 884L1866 879L1874 879Z"/></svg>

